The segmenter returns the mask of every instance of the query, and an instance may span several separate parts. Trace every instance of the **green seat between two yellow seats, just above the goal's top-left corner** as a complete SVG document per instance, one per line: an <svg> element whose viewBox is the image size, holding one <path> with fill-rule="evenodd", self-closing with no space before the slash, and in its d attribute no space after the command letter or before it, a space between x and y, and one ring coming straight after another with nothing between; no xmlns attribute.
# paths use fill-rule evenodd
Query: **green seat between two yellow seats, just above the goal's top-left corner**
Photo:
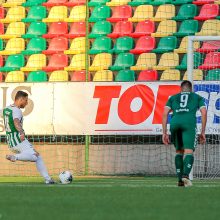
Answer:
<svg viewBox="0 0 220 220"><path fill-rule="evenodd" d="M195 35L198 31L199 23L196 20L184 20L177 33L174 33L175 36L185 37L189 35Z"/></svg>

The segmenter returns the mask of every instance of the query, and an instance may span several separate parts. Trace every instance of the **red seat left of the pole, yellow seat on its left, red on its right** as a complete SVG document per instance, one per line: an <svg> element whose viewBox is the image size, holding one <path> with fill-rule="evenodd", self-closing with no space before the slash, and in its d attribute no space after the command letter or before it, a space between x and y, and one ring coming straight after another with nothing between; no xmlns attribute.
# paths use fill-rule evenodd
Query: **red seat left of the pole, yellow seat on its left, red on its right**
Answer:
<svg viewBox="0 0 220 220"><path fill-rule="evenodd" d="M68 66L68 56L66 54L53 54L49 63L42 70L46 72L52 72L55 70L63 70L64 67Z"/></svg>

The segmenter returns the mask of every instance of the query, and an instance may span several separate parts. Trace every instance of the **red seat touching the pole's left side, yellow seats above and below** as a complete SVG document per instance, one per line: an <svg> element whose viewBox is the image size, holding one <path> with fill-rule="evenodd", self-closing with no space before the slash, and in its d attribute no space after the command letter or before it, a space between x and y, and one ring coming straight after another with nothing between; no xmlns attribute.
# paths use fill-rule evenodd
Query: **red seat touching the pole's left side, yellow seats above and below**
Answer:
<svg viewBox="0 0 220 220"><path fill-rule="evenodd" d="M70 32L64 35L67 38L85 37L86 36L86 23L74 22L70 27Z"/></svg>

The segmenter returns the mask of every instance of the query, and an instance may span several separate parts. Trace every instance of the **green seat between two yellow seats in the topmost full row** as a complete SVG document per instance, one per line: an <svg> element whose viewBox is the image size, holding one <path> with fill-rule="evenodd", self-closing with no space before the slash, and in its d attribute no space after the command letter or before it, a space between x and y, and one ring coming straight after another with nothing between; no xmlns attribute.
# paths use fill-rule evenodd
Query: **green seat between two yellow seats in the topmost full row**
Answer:
<svg viewBox="0 0 220 220"><path fill-rule="evenodd" d="M33 6L29 9L26 18L23 18L22 22L39 22L47 17L47 9L43 6Z"/></svg>

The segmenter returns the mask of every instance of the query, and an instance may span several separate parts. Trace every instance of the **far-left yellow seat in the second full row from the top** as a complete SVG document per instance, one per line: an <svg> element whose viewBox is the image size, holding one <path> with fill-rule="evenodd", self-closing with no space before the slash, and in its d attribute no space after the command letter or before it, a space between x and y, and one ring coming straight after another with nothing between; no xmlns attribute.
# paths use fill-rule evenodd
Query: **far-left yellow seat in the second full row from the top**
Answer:
<svg viewBox="0 0 220 220"><path fill-rule="evenodd" d="M25 34L24 22L12 22L8 25L5 34L0 35L0 38L10 39L15 37L21 37L22 34Z"/></svg>

